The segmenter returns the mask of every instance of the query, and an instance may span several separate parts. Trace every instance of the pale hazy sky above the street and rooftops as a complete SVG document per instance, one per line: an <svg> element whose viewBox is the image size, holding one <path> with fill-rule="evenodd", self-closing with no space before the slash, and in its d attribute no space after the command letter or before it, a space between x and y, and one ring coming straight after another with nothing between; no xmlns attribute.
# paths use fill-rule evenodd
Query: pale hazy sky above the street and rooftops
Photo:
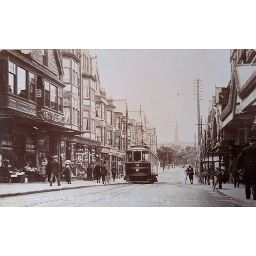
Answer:
<svg viewBox="0 0 256 256"><path fill-rule="evenodd" d="M101 87L113 99L127 99L129 111L145 111L157 140L174 141L177 122L180 141L198 140L197 101L193 80L200 79L202 123L215 87L230 80L230 50L90 50L97 53Z"/></svg>

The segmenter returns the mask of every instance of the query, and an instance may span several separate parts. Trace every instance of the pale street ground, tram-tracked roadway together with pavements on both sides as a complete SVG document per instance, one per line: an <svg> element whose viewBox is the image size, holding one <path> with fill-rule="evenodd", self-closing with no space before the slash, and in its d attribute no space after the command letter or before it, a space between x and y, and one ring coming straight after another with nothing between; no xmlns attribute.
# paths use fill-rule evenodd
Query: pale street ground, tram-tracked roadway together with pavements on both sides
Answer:
<svg viewBox="0 0 256 256"><path fill-rule="evenodd" d="M211 186L197 184L185 184L184 169L177 167L159 174L159 181L154 184L127 184L123 180L116 180L115 184L105 186L102 183L89 184L89 182L75 183L73 189L50 189L46 191L40 186L31 186L30 191L18 193L12 190L12 194L4 197L5 189L1 187L1 206L131 206L131 207L189 207L189 206L217 206L240 207L254 206L254 201L242 200L244 186L234 191L229 184L223 186L224 192L217 189L212 191ZM25 185L25 184L22 184ZM55 187L56 188L56 187ZM37 193L36 190L37 189ZM22 189L20 189L22 190ZM11 192L11 191L9 191Z"/></svg>

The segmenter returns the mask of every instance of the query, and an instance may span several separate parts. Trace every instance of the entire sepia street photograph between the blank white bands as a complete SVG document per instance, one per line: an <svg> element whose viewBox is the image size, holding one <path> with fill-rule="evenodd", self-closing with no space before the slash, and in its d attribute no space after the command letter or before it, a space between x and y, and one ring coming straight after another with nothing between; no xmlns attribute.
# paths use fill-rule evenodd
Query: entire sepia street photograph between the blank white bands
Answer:
<svg viewBox="0 0 256 256"><path fill-rule="evenodd" d="M253 49L0 50L0 206L254 206L255 63Z"/></svg>

